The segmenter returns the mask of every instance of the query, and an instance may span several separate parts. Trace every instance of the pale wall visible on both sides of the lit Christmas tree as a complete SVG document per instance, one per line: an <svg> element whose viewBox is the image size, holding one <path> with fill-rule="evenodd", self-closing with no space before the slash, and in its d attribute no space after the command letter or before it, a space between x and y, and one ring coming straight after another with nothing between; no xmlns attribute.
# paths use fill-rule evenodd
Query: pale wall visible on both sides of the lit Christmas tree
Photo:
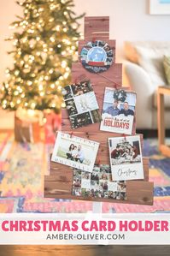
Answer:
<svg viewBox="0 0 170 256"><path fill-rule="evenodd" d="M85 12L86 15L110 17L110 39L117 40L117 62L123 57L126 40L170 40L170 15L149 15L149 0L74 0L74 3L78 15ZM11 43L4 39L12 34L9 23L15 21L15 15L21 15L21 10L15 0L0 1L0 84L5 78L5 68L12 63L12 57L6 54ZM3 118L4 127L5 123Z"/></svg>

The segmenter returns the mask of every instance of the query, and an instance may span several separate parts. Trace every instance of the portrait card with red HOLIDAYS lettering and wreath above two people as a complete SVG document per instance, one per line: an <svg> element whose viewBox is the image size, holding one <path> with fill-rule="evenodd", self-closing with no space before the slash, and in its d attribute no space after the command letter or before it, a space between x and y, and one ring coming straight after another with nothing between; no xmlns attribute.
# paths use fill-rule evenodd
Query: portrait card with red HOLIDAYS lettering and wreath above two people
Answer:
<svg viewBox="0 0 170 256"><path fill-rule="evenodd" d="M135 105L135 92L106 87L100 129L112 133L132 134Z"/></svg>

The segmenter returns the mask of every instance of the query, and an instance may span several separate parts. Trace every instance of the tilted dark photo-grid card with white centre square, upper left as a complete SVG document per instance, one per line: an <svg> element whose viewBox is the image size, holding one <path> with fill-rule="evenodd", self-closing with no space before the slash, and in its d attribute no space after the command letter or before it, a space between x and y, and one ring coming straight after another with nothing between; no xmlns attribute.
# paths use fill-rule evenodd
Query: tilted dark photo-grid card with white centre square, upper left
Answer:
<svg viewBox="0 0 170 256"><path fill-rule="evenodd" d="M62 95L73 129L101 121L90 80L64 87Z"/></svg>

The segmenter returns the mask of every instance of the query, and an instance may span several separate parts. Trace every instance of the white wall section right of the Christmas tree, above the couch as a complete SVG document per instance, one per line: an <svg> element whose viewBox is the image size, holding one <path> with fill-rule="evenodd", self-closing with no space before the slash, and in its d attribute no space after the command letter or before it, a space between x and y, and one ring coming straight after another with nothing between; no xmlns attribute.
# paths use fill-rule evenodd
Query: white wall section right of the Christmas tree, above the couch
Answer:
<svg viewBox="0 0 170 256"><path fill-rule="evenodd" d="M170 40L170 15L149 15L149 0L74 0L75 11L110 17L110 39L116 39L117 59L126 40ZM81 27L83 32L83 26Z"/></svg>

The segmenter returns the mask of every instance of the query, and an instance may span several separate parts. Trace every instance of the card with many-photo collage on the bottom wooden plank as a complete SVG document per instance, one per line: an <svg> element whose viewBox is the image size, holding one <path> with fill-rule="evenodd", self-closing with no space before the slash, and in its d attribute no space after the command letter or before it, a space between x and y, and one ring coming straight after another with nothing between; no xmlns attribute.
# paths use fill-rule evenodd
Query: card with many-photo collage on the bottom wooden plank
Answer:
<svg viewBox="0 0 170 256"><path fill-rule="evenodd" d="M74 169L73 195L123 200L126 199L126 182L113 182L108 164L95 165L92 173Z"/></svg>

